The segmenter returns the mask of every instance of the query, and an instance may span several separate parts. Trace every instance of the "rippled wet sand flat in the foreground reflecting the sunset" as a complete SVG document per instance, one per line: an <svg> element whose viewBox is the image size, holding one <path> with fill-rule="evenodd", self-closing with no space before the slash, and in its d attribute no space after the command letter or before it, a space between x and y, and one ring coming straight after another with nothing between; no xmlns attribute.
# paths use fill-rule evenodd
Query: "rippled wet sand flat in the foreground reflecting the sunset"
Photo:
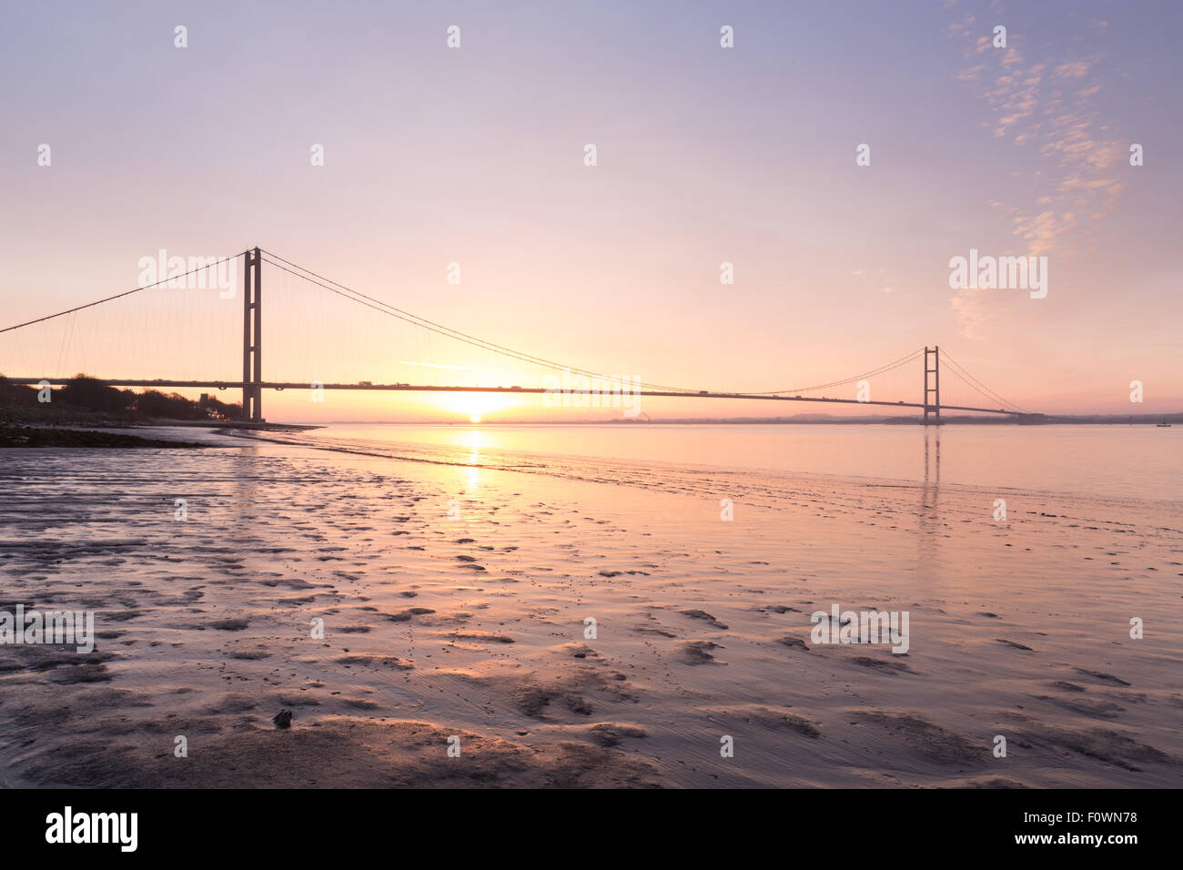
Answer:
<svg viewBox="0 0 1183 870"><path fill-rule="evenodd" d="M5 785L1183 785L1177 503L337 446L5 451Z"/></svg>

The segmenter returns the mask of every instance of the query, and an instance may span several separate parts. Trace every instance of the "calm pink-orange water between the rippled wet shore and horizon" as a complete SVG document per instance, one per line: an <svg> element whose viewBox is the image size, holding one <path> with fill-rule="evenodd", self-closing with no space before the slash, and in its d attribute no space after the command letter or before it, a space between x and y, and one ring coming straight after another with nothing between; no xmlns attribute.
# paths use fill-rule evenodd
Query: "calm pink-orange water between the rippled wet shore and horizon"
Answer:
<svg viewBox="0 0 1183 870"><path fill-rule="evenodd" d="M336 424L310 437L1183 501L1183 426Z"/></svg>

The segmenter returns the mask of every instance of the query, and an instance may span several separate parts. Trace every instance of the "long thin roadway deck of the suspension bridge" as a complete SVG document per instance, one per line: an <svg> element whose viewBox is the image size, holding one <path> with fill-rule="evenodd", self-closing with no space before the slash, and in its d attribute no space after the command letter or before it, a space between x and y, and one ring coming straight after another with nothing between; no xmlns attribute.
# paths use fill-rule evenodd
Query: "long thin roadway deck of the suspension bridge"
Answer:
<svg viewBox="0 0 1183 870"><path fill-rule="evenodd" d="M9 384L27 384L30 386L37 386L45 381L50 386L64 386L69 384L72 378L7 378ZM136 379L111 379L111 378L96 378L95 380L105 384L109 387L182 387L189 389L243 389L250 387L260 387L261 389L311 389L310 384L289 384L289 382L270 382L264 381L261 384L253 384L243 381L146 381ZM322 389L357 389L357 391L369 391L369 389L387 389L387 391L409 391L420 393L561 393L565 392L568 395L599 395L612 397L613 393L608 393L602 389L550 389L547 387L451 387L451 386L418 386L412 384L322 384ZM924 410L923 402L914 401L860 401L859 399L829 399L826 397L808 397L808 395L759 395L751 393L712 393L707 389L700 389L694 392L678 392L678 391L654 391L654 389L638 389L629 393L631 395L644 395L654 398L677 398L677 399L749 399L749 400L768 400L768 401L821 401L832 402L841 405L883 405L893 408L920 408ZM935 407L935 406L933 406ZM1023 414L1019 411L1007 411L1004 408L971 408L961 405L942 405L940 411L975 411L983 414L1008 414L1010 417L1032 417L1033 414ZM1039 417L1039 414L1034 414Z"/></svg>

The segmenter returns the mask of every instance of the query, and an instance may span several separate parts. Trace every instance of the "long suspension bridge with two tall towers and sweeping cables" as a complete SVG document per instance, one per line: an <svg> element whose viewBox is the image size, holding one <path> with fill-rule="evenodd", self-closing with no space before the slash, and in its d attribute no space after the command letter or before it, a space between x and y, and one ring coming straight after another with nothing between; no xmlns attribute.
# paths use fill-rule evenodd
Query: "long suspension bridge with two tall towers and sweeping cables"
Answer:
<svg viewBox="0 0 1183 870"><path fill-rule="evenodd" d="M323 292L332 294L342 299L354 303L358 307L364 307L386 317L394 318L411 327L425 330L426 333L440 335L450 341L455 341L466 344L471 348L476 348L481 352L486 352L500 357L513 360L518 363L526 363L541 368L543 370L550 372L562 372L568 375L575 375L577 378L590 379L592 384L602 384L605 381L613 381L613 376L597 374L590 369L580 368L576 366L568 366L554 360L536 356L534 354L515 350L512 348L497 344L483 339L478 339L467 333L463 333L448 327L445 327L434 321L429 321L424 317L419 317L402 309L395 308L383 301L367 296L357 290L350 289L344 284L340 284L335 281L325 278L317 272L305 269L291 260L286 260L278 254L271 253L270 251L254 247L252 250L244 251L241 253L234 254L233 257L208 258L208 260L202 262L198 266L190 269L189 271L177 272L169 275L167 278L161 281L142 284L132 290L128 290L115 296L108 296L93 302L86 303L84 305L77 305L75 308L66 309L64 311L58 311L56 314L50 314L44 317L38 317L24 323L17 323L9 327L0 328L0 342L2 342L6 334L8 335L20 335L22 330L40 329L53 322L66 322L66 329L62 336L63 353L65 350L66 343L73 337L73 322L71 318L76 318L80 312L97 309L102 305L111 305L117 303L119 299L125 299L127 297L134 296L136 294L143 294L153 289L160 289L164 286L176 288L177 282L183 282L186 279L192 279L195 276L205 277L207 270L214 270L219 266L226 264L230 260L237 260L241 258L243 263L243 320L241 320L241 379L227 379L227 378L192 378L192 379L147 379L136 376L104 376L104 375L90 375L95 380L111 387L173 387L173 388L202 388L202 389L240 389L243 393L243 419L251 420L254 423L263 423L263 394L267 389L272 391L284 391L284 389L325 389L325 391L406 391L406 392L427 392L427 393L509 393L509 394L545 394L555 391L554 386L547 387L532 387L532 386L487 386L487 385L447 385L447 384L411 384L411 382L394 382L394 384L374 384L369 380L360 380L356 382L323 382L323 381L295 381L295 380L283 380L283 381L267 381L263 376L263 265L267 264L279 272L291 276L292 279L302 282L306 285L318 288ZM213 283L211 282L211 286ZM206 288L206 282L202 279L200 286ZM224 295L225 297L225 295ZM270 303L269 303L270 304ZM119 326L131 326L127 323L128 318L118 321ZM138 324L138 334L143 334L144 329L151 329L150 324L141 323ZM134 328L134 327L132 327ZM129 340L132 336L127 336ZM44 340L39 340L44 343ZM4 344L0 343L0 363L4 362ZM19 355L19 354L18 354ZM909 400L887 400L881 398L871 399L866 393L867 387L872 379L881 379L883 375L890 372L905 370L909 366L916 366L923 357L923 373L917 373L917 386L920 386L920 374L923 374L923 389L918 391L920 393L920 401L909 401ZM59 356L60 359L60 356ZM434 366L433 363L403 363L403 365L432 365L434 368L466 368L461 366ZM2 370L2 369L0 369ZM942 404L940 400L940 379L942 374L946 378L946 393L949 389L949 379L952 378L953 382L961 388L962 394L969 394L976 397L983 401L982 405L968 405L968 404ZM20 374L20 375L7 375L5 378L11 384L21 384L40 387L54 387L64 386L69 384L72 378L65 376L63 374ZM732 399L732 400L759 400L759 401L793 401L793 402L823 402L834 405L873 405L873 406L886 406L892 408L917 408L923 411L923 423L927 425L940 424L942 412L958 411L967 413L982 413L982 414L1001 414L1016 419L1021 423L1032 423L1043 419L1042 414L1028 411L1014 402L1009 402L1000 397L997 393L984 386L974 375L971 375L964 367L957 363L956 360L949 356L948 353L939 349L939 347L924 347L922 349L914 350L898 360L888 362L878 368L864 372L861 374L852 375L849 378L843 378L840 380L828 381L825 384L815 384L809 386L800 387L787 387L781 389L769 389L769 391L757 391L757 392L726 392L717 389L697 389L692 387L673 387L667 385L651 384L646 381L631 380L627 384L622 384L620 379L616 379L612 384L613 388L620 391L621 388L627 388L631 395L639 397L653 397L653 398L680 398L680 399ZM859 389L860 394L854 398L848 397L835 397L826 395L825 392L833 392L843 387L854 386ZM589 387L569 387L564 388L567 393L573 395L593 395L600 394L602 388L594 386ZM821 394L820 394L821 393ZM987 405L985 402L989 402Z"/></svg>

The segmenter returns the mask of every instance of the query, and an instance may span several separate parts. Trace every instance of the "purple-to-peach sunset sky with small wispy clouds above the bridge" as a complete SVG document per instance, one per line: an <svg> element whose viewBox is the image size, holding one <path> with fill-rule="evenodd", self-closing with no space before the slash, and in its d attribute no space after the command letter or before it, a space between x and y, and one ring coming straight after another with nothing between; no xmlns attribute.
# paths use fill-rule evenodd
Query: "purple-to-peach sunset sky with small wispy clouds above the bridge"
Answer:
<svg viewBox="0 0 1183 870"><path fill-rule="evenodd" d="M0 328L136 288L162 250L259 245L452 329L661 385L809 386L939 344L1032 410L1183 411L1181 24L1177 2L20 5L0 30ZM1046 257L1046 296L952 288L971 250ZM264 299L269 380L547 374L272 265ZM241 296L209 290L0 334L6 374L220 380L240 362ZM922 379L913 361L872 398L919 401ZM266 415L620 413L310 398L269 393ZM825 410L770 406L641 405Z"/></svg>

